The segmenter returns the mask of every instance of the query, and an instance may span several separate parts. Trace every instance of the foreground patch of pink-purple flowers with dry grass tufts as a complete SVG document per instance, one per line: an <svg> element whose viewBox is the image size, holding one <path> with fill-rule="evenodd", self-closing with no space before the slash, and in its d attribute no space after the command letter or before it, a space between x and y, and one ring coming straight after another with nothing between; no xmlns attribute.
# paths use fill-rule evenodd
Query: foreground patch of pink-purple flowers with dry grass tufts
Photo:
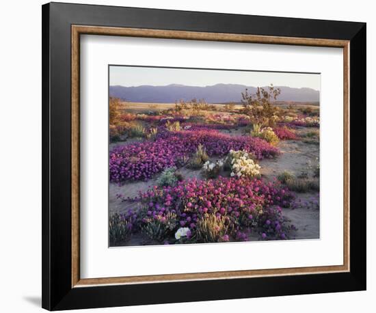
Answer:
<svg viewBox="0 0 376 313"><path fill-rule="evenodd" d="M206 228L213 228L212 232L222 228L221 236L215 237L217 242L247 241L249 232L260 239L286 239L294 226L283 217L282 208L290 206L293 199L293 194L277 182L248 177L191 179L140 193L137 200L142 209L119 219L132 232L144 230L152 239L165 243L182 243L180 236L174 238L176 232L182 232L180 228L189 230L184 242L205 242L200 228L202 220L211 216L213 221ZM163 234L157 231L161 229Z"/></svg>

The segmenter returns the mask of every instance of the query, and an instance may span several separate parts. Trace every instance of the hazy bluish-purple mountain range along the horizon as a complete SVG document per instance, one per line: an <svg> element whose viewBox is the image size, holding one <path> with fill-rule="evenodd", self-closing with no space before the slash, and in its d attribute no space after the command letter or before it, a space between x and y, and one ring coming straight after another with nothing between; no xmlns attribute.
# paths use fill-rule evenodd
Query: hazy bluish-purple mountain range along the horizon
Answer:
<svg viewBox="0 0 376 313"><path fill-rule="evenodd" d="M319 92L311 88L276 87L281 89L281 94L278 97L280 101L318 102L320 98ZM188 101L193 98L204 99L207 103L228 103L240 102L241 92L244 92L245 88L252 94L256 92L256 87L223 83L206 87L176 84L137 87L116 85L109 87L109 95L141 103L174 103L176 100Z"/></svg>

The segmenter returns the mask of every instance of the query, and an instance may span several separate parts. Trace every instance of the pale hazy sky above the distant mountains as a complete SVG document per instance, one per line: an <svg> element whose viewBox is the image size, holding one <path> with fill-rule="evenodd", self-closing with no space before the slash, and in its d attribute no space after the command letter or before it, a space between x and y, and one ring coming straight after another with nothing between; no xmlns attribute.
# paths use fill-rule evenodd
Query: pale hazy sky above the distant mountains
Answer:
<svg viewBox="0 0 376 313"><path fill-rule="evenodd" d="M202 87L217 83L234 83L262 87L272 83L275 86L309 87L314 90L320 90L321 79L320 74L317 73L109 66L109 85L111 86L164 86L173 83Z"/></svg>

